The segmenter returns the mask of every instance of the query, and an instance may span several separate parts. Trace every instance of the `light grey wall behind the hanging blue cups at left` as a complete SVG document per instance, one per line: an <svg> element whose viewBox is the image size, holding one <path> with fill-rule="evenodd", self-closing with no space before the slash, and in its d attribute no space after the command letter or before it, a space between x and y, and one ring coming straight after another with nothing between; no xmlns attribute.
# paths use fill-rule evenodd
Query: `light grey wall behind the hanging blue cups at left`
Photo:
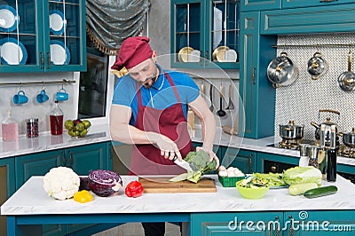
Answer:
<svg viewBox="0 0 355 236"><path fill-rule="evenodd" d="M77 114L77 99L78 99L78 74L77 73L51 73L51 74L2 74L1 83L27 83L27 82L53 82L70 80L75 81L74 84L64 84L63 87L69 94L67 101L60 102L59 107L63 110L64 119L74 119ZM43 104L39 104L36 101L36 95L42 90L42 87L46 90L50 97L48 101ZM58 90L61 89L62 84L36 84L36 85L22 85L22 90L25 91L28 96L28 103L23 105L15 105L12 102L14 94L20 90L18 85L0 85L0 122L3 122L7 117L7 111L12 111L12 118L19 123L20 135L26 133L25 120L28 118L39 119L39 131L46 132L50 130L49 114L51 108L54 105L55 95ZM1 130L1 129L0 129ZM2 130L1 130L2 131Z"/></svg>

